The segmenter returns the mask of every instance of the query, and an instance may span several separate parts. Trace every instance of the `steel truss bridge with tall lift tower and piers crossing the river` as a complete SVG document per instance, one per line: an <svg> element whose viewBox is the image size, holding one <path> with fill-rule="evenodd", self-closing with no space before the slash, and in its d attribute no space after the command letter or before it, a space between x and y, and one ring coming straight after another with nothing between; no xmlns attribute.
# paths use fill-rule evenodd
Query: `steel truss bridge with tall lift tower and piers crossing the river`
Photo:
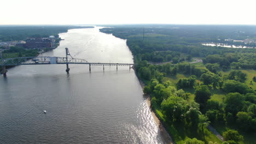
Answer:
<svg viewBox="0 0 256 144"><path fill-rule="evenodd" d="M16 57L16 58L7 58L3 59L2 56L2 51L0 51L0 56L1 56L1 61L0 65L2 67L1 74L6 76L7 69L6 66L14 66L14 65L39 65L39 64L66 64L66 71L69 73L69 67L68 64L88 64L89 65L89 70L91 71L91 65L103 65L103 70L104 70L104 65L114 65L117 67L118 66L129 66L129 68L133 68L132 63L91 63L86 61L85 59L80 59L80 58L73 58L69 51L68 48L66 49L66 57Z"/></svg>

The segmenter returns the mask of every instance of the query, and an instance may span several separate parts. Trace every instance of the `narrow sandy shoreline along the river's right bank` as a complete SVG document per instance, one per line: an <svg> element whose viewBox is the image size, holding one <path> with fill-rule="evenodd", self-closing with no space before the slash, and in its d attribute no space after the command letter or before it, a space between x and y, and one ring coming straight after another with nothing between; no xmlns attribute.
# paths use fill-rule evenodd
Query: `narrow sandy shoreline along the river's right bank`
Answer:
<svg viewBox="0 0 256 144"><path fill-rule="evenodd" d="M139 80L139 84L141 85L142 89L145 87L145 84L143 83L142 80ZM161 134L161 138L162 140L166 143L166 144L173 144L173 140L171 138L171 136L168 134L168 132L166 131L164 125L162 125L161 121L159 120L159 118L156 116L155 112L152 110L151 108L151 101L150 101L150 96L149 95L145 95L148 106L150 107L150 111L152 113L152 116L155 120L155 123L158 125L158 128L160 130L160 134Z"/></svg>

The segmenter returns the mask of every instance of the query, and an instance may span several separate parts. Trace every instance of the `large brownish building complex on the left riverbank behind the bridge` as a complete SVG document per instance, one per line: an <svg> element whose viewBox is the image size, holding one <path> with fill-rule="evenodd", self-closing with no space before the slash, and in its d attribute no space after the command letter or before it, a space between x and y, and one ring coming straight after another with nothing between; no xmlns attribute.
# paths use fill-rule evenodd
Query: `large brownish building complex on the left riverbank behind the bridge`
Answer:
<svg viewBox="0 0 256 144"><path fill-rule="evenodd" d="M54 39L51 39L51 38L29 38L29 39L26 39L25 47L27 49L52 48L52 47L54 47Z"/></svg>

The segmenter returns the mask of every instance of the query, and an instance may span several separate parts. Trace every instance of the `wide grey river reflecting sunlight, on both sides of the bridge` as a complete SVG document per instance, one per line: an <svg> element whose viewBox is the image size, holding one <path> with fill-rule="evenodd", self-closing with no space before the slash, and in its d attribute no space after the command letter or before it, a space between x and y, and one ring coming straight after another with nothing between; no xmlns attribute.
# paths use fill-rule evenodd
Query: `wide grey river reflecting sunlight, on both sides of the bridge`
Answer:
<svg viewBox="0 0 256 144"><path fill-rule="evenodd" d="M133 63L126 40L100 27L61 33L40 56ZM0 143L163 143L129 67L20 65L0 77ZM44 113L43 110L47 112Z"/></svg>

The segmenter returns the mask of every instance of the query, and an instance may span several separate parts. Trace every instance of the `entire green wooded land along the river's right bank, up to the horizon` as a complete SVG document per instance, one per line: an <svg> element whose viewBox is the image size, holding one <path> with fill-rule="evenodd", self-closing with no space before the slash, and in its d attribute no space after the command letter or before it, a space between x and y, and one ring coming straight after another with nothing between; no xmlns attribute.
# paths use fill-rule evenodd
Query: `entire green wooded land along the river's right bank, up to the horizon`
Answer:
<svg viewBox="0 0 256 144"><path fill-rule="evenodd" d="M256 49L201 43L256 39L255 26L127 25L100 31L127 39L137 75L146 83L143 92L151 96L152 108L174 142L254 142ZM193 57L202 63L189 63ZM224 142L207 129L209 124Z"/></svg>

